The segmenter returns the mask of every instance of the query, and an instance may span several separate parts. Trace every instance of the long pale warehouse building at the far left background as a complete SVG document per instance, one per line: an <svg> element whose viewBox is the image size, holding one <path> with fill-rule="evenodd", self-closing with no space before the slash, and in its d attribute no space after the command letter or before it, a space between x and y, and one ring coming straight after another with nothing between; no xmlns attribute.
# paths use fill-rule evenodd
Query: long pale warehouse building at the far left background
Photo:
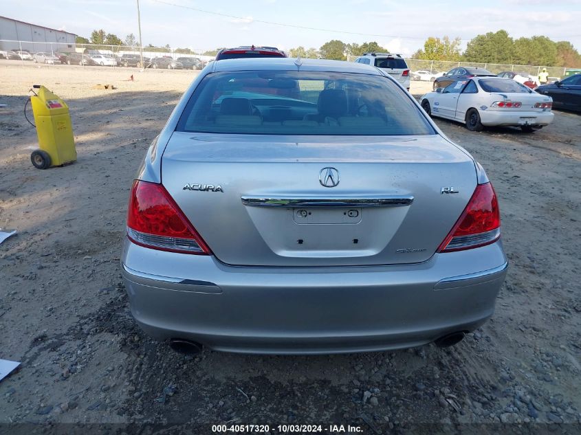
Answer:
<svg viewBox="0 0 581 435"><path fill-rule="evenodd" d="M75 49L76 34L0 16L0 50L31 53ZM21 41L19 43L19 41Z"/></svg>

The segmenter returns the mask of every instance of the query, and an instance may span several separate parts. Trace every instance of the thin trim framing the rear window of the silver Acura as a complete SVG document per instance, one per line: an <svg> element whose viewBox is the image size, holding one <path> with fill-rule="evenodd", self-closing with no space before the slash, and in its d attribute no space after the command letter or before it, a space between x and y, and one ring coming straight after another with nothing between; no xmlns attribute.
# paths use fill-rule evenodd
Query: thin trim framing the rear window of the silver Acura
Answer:
<svg viewBox="0 0 581 435"><path fill-rule="evenodd" d="M386 75L383 71L381 71L380 68L377 68L377 70L379 71L380 74L369 74L367 72L360 72L360 71L309 71L309 72L333 72L333 73L342 73L344 72L345 74L356 74L358 76L370 76L370 77L381 77L384 80L388 80L393 82L394 85L396 85L397 87L402 87L401 84L399 82L397 82L397 80L395 80L394 78L392 78L391 76ZM241 69L241 70L236 70L236 71L209 71L208 74L206 74L204 77L201 78L200 82L197 84L197 86L192 90L192 92L190 93L190 96L188 97L188 101L186 102L186 104L184 104L184 109L182 110L182 113L180 113L179 118L177 119L177 122L175 124L175 128L173 129L173 131L177 132L177 133L198 133L198 134L219 134L219 135L259 135L259 136L337 136L337 134L328 134L328 133L296 133L296 134L283 134L283 133L272 133L272 132L264 132L264 133L260 133L260 132L208 132L208 131L197 131L197 130L186 130L183 127L184 122L184 117L187 118L186 115L186 108L189 106L190 101L192 100L192 98L194 97L197 89L199 89L200 85L202 84L202 82L204 82L204 79L208 78L209 76L215 75L215 74L223 74L225 72L253 72L253 71L271 71L268 69ZM288 70L284 70L284 71L290 71L290 72L294 72L294 70L292 69L288 69ZM279 71L281 72L281 71ZM423 111L419 110L419 103L415 100L415 98L413 98L409 93L405 92L404 89L404 95L406 96L406 98L408 98L408 100L410 101L410 103L413 105L413 107L415 107L419 117L422 118L422 120L424 120L425 124L426 124L426 128L427 128L427 132L426 133L405 133L405 134L373 134L373 133L369 133L369 132L364 132L361 134L343 134L340 136L349 136L349 137L365 137L365 136L373 136L373 137L380 137L380 136L384 136L384 137L391 137L391 136L397 136L397 137L405 137L405 136L409 136L409 137L414 137L414 136L435 136L435 135L440 135L440 133L438 132L437 128L434 126L433 121L431 120L431 118L429 118L427 115L424 114Z"/></svg>

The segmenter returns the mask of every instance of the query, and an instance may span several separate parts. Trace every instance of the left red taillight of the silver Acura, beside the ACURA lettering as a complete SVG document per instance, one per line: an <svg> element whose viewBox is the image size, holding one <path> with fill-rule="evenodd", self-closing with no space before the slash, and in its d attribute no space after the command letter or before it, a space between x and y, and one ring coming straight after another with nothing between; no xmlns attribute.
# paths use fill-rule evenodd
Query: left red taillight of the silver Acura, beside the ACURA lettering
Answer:
<svg viewBox="0 0 581 435"><path fill-rule="evenodd" d="M131 187L127 236L138 245L186 254L211 254L161 184L136 180Z"/></svg>

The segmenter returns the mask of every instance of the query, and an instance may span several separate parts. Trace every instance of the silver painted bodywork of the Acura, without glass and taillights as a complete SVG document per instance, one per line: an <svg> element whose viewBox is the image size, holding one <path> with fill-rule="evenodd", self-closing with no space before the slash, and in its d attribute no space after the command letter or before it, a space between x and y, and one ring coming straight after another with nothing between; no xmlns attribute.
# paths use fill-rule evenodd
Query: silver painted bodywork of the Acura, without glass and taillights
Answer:
<svg viewBox="0 0 581 435"><path fill-rule="evenodd" d="M260 58L220 60L201 71L136 179L163 183L214 255L163 252L126 238L122 274L140 326L159 339L192 339L217 350L340 353L417 346L483 324L506 273L502 242L443 254L436 249L476 185L488 179L411 96L436 134L175 131L206 75L296 68L384 76L354 63L304 60L297 67L292 59ZM327 167L340 175L334 187L320 183ZM187 183L219 185L222 192L184 190ZM441 194L448 186L458 193ZM386 206L402 198L405 203ZM339 215L333 210L340 208L309 208L308 201L270 207L256 199L354 205ZM388 201L364 206L377 199Z"/></svg>

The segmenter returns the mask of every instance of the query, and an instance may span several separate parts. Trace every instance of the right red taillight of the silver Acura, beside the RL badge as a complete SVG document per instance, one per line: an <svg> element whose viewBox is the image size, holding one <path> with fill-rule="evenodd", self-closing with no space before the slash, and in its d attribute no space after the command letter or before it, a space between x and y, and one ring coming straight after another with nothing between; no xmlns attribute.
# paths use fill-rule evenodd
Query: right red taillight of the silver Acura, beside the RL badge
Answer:
<svg viewBox="0 0 581 435"><path fill-rule="evenodd" d="M494 243L501 236L501 214L492 184L476 186L460 219L438 247L438 252L461 251Z"/></svg>

